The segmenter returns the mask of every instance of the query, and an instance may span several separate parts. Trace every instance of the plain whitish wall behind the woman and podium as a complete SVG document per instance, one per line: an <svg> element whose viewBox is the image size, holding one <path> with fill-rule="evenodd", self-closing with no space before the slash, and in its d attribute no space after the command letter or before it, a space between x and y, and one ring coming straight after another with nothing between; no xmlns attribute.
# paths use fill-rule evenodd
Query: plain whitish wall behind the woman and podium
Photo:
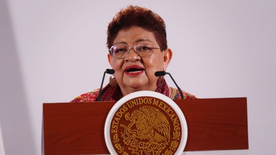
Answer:
<svg viewBox="0 0 276 155"><path fill-rule="evenodd" d="M247 97L248 154L275 154L275 0L0 0L5 153L40 154L42 103L100 86L110 68L107 25L128 4L166 22L174 52L167 71L178 85L200 98Z"/></svg>

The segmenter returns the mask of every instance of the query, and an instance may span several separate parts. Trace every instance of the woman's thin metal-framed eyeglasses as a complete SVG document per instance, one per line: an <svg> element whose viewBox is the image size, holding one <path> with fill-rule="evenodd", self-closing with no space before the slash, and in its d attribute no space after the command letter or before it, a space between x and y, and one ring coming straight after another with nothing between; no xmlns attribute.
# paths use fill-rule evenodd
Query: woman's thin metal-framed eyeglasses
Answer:
<svg viewBox="0 0 276 155"><path fill-rule="evenodd" d="M128 47L126 45L114 45L109 49L112 57L117 59L124 59L129 54L129 51L134 49L135 53L139 57L148 57L153 53L153 49L160 49L160 47L153 46L153 44L137 44L134 47Z"/></svg>

